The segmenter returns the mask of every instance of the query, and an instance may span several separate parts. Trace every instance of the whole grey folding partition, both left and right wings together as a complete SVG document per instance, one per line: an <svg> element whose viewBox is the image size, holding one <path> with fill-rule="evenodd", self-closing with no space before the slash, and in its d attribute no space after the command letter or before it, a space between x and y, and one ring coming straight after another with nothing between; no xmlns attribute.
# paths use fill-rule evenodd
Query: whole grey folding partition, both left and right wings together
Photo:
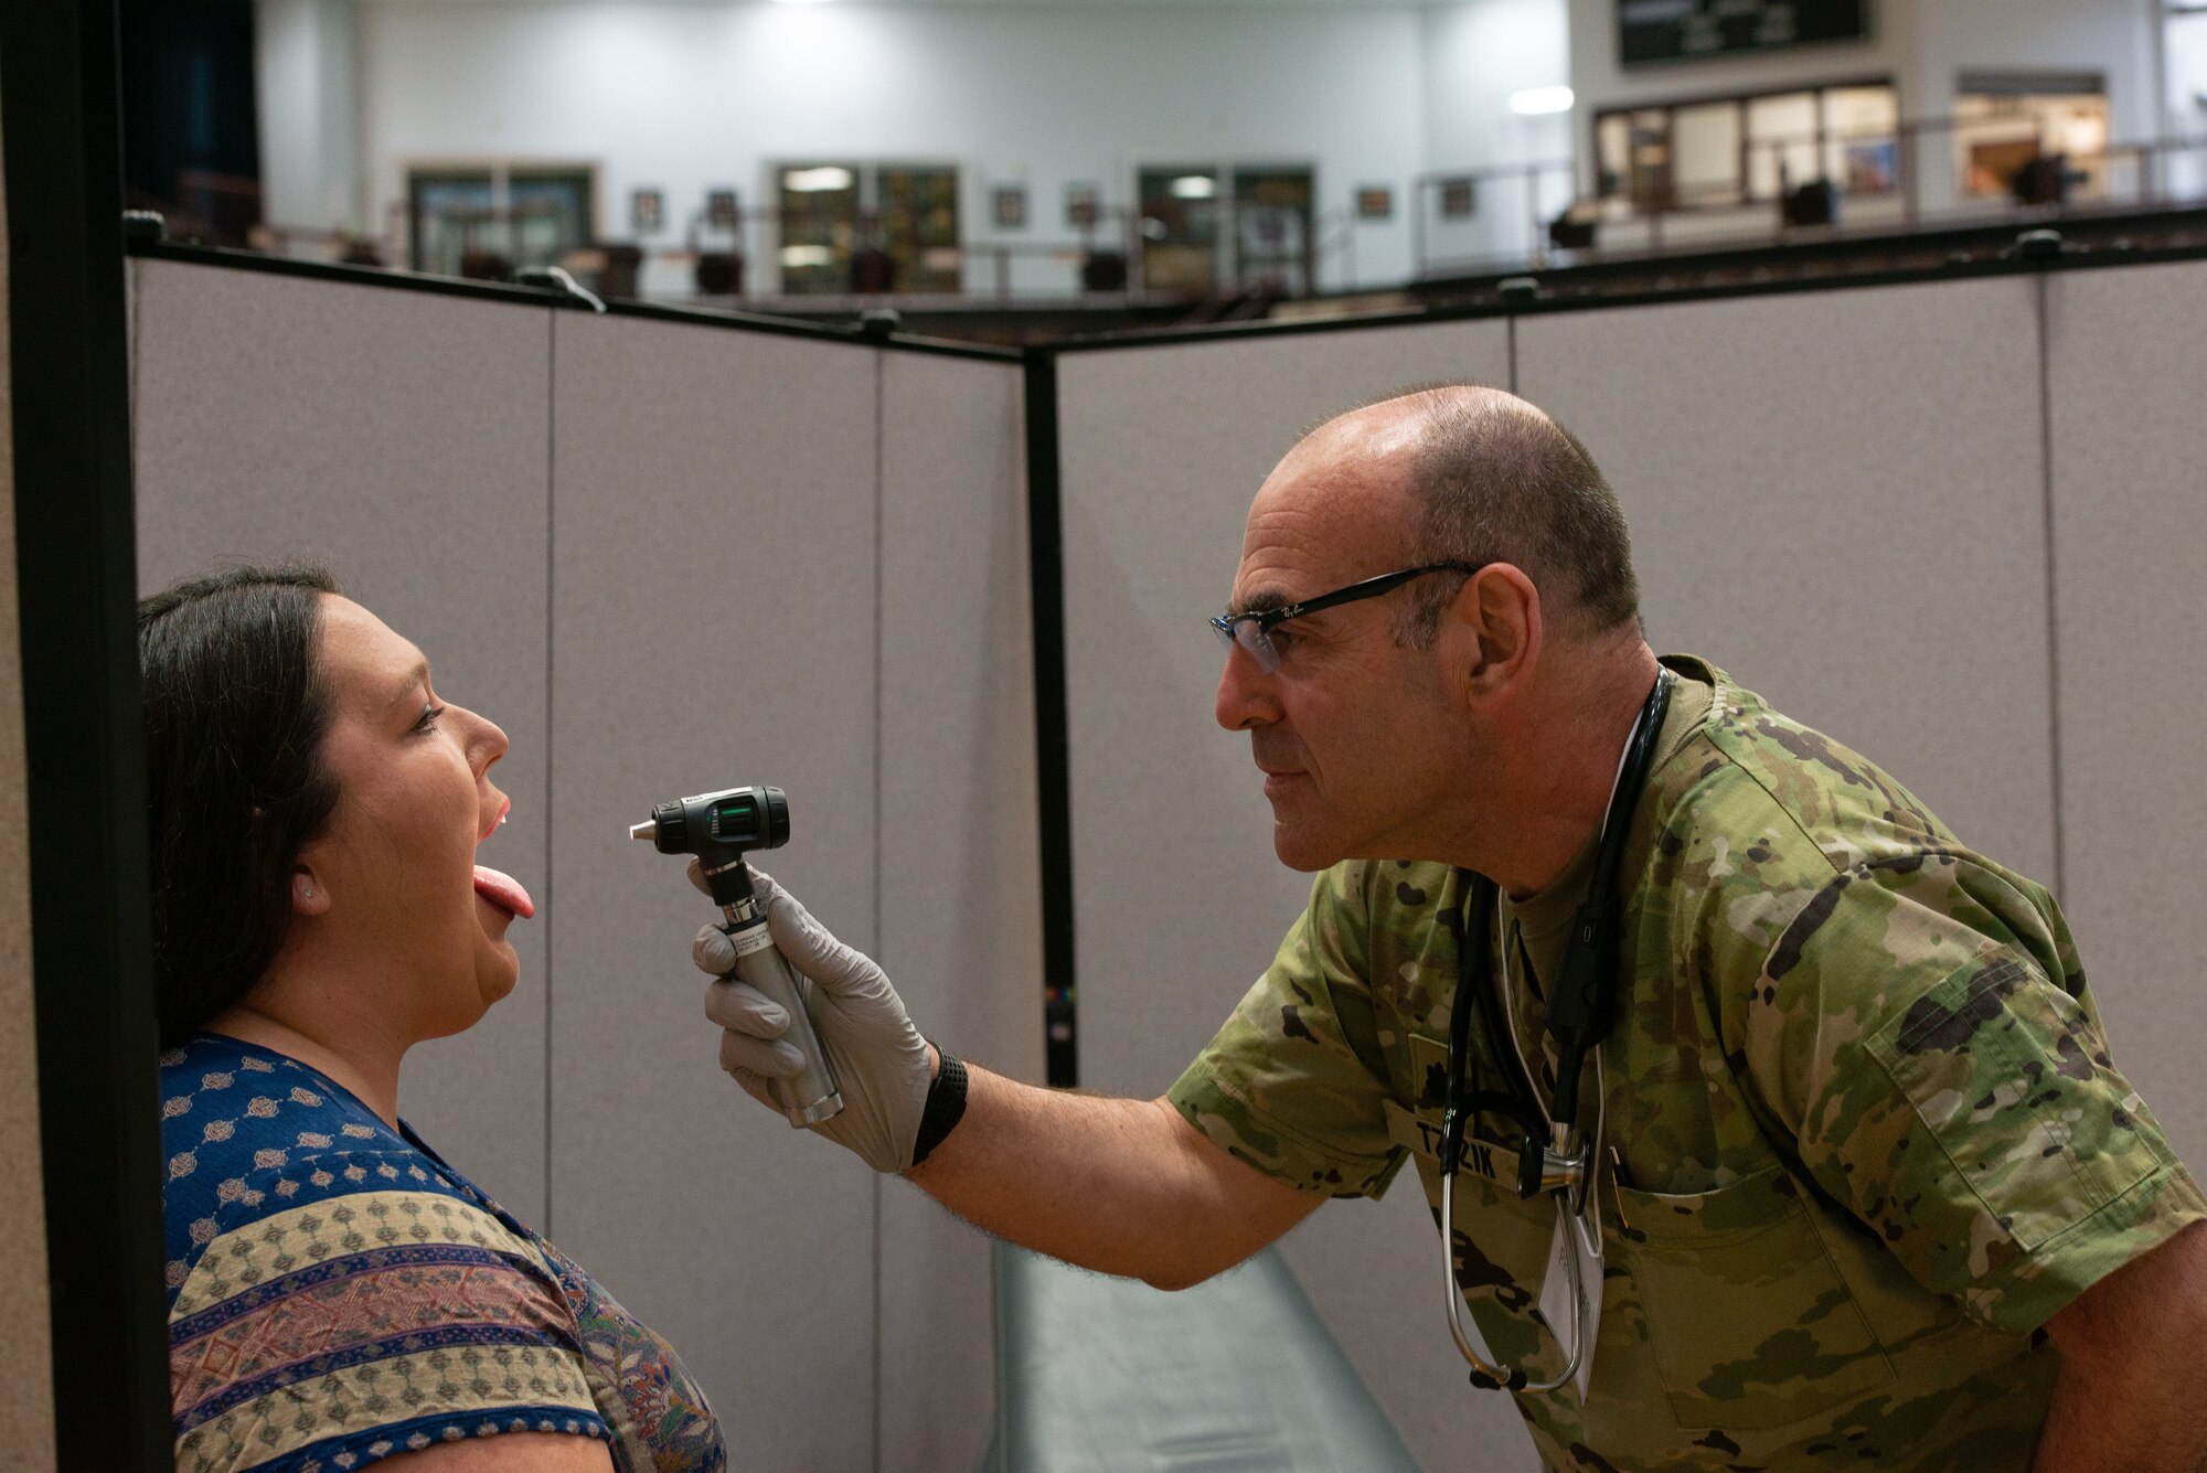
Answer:
<svg viewBox="0 0 2207 1473"><path fill-rule="evenodd" d="M1039 1078L1017 366L135 269L146 580L329 556L514 739L497 845L545 915L521 992L411 1065L411 1114L671 1334L739 1464L969 1464L982 1239L735 1098L684 959L702 902L622 831L682 792L788 787L768 867L936 1034ZM1201 617L1251 492L1344 404L1476 379L1604 463L1657 646L2059 886L2119 1058L2207 1153L2181 931L2207 822L2203 309L2194 262L1059 353L1064 609L1039 628L1064 639L1081 1085L1170 1085L1302 904L1247 741L1212 721ZM1284 1252L1419 1458L1532 1464L1463 1383L1415 1189Z"/></svg>

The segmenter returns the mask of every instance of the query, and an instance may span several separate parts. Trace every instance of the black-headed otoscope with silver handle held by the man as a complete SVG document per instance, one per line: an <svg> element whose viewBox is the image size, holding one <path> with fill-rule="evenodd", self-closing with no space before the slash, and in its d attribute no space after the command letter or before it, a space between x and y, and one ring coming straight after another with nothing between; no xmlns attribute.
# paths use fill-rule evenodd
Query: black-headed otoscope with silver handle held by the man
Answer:
<svg viewBox="0 0 2207 1473"><path fill-rule="evenodd" d="M795 1078L772 1080L775 1100L790 1125L819 1125L843 1109L843 1092L834 1065L821 1052L812 1032L808 997L812 983L790 970L788 959L766 931L766 906L750 886L744 853L779 849L790 840L790 800L779 787L731 787L717 794L678 798L651 809L651 820L629 829L629 838L649 838L660 853L693 853L704 869L728 922L722 933L735 942L735 975L770 997L790 1014L783 1036L806 1056Z"/></svg>

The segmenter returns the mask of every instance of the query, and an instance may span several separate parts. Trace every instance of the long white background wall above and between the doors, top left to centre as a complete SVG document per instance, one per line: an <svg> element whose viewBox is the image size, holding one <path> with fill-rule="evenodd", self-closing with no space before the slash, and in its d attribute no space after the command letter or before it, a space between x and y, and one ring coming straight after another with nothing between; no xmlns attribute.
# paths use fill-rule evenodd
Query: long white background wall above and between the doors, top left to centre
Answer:
<svg viewBox="0 0 2207 1473"><path fill-rule="evenodd" d="M377 212L411 161L603 161L600 229L627 238L629 190L655 185L673 240L713 185L759 203L775 161L900 157L962 165L967 240L993 234L987 185L1022 181L1031 227L1006 238L1070 243L1066 183L1126 205L1143 161L1307 161L1320 212L1395 187L1395 221L1357 227L1355 267L1408 273L1401 201L1428 132L1408 4L366 0L360 29ZM1070 282L1064 265L1039 276Z"/></svg>

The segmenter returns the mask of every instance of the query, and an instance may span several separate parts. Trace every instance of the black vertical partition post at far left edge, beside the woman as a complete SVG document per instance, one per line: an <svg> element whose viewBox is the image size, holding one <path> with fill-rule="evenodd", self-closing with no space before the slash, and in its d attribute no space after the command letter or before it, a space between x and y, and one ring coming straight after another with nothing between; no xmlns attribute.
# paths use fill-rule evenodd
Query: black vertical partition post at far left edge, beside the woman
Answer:
<svg viewBox="0 0 2207 1473"><path fill-rule="evenodd" d="M53 1458L172 1464L115 0L0 13Z"/></svg>

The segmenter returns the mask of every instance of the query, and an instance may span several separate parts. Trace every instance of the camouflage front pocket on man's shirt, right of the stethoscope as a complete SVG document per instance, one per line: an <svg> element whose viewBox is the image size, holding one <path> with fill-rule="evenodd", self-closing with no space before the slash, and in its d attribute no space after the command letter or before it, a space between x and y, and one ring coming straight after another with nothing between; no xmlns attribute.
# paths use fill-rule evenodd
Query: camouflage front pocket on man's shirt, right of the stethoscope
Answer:
<svg viewBox="0 0 2207 1473"><path fill-rule="evenodd" d="M1680 1427L1785 1427L1894 1378L1783 1169L1691 1197L1624 1186L1618 1202Z"/></svg>

